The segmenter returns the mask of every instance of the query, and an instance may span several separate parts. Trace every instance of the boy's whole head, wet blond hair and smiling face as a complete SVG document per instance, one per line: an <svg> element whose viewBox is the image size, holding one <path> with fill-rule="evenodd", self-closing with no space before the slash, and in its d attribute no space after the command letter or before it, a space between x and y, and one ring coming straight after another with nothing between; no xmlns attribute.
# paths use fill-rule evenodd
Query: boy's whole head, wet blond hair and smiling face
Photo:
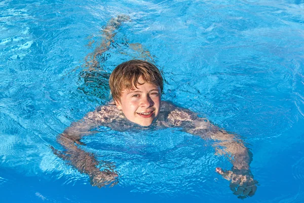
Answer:
<svg viewBox="0 0 304 203"><path fill-rule="evenodd" d="M148 126L157 118L163 78L155 65L143 60L126 61L112 72L109 86L127 119Z"/></svg>

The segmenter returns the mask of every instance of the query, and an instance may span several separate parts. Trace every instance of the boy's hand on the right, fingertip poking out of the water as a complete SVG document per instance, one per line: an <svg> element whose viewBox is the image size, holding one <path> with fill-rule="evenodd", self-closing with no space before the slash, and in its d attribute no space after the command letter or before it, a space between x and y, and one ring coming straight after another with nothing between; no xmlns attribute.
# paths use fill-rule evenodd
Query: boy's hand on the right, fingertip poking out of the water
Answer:
<svg viewBox="0 0 304 203"><path fill-rule="evenodd" d="M235 195L238 195L238 198L244 199L254 195L257 181L253 179L249 172L240 174L234 171L223 171L220 167L217 167L215 171L224 179L231 181L230 189Z"/></svg>

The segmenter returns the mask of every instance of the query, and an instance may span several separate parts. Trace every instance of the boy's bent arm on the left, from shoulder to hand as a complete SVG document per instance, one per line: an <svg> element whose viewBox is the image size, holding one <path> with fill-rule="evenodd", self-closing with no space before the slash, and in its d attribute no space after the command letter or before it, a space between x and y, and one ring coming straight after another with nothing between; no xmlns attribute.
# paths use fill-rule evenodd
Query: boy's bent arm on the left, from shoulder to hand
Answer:
<svg viewBox="0 0 304 203"><path fill-rule="evenodd" d="M57 137L57 142L64 148L64 151L58 151L54 148L54 153L67 161L68 164L77 168L80 173L88 174L93 186L103 187L111 184L111 186L118 183L118 175L114 171L104 170L100 171L98 168L99 162L94 157L93 153L86 152L79 148L79 145L85 145L81 142L84 136L89 136L95 131L93 128L102 125L111 120L109 106L103 106L94 112L89 112L83 119L74 122L66 128L63 133Z"/></svg>

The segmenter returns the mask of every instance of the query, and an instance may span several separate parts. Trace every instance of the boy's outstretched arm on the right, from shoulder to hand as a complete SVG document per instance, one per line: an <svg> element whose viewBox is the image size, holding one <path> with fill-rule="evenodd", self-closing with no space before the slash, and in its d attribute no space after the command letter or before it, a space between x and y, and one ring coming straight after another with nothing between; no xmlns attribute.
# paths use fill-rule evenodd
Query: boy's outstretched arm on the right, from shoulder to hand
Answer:
<svg viewBox="0 0 304 203"><path fill-rule="evenodd" d="M250 171L252 153L245 147L243 141L235 134L227 133L211 124L205 118L199 118L193 112L175 108L168 115L168 120L175 126L183 127L188 133L200 136L203 139L215 141L217 155L226 155L233 164L231 171L224 171L217 167L216 172L226 180L230 180L230 188L239 198L252 196L256 191L256 181Z"/></svg>

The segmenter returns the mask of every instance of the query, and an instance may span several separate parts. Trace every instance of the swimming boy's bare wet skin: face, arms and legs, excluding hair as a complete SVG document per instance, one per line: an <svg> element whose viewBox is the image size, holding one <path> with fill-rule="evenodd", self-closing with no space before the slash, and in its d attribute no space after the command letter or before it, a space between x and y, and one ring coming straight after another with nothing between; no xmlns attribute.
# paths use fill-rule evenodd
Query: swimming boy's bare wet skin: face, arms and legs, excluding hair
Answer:
<svg viewBox="0 0 304 203"><path fill-rule="evenodd" d="M100 46L95 48L93 53L88 54L84 67L88 68L88 70L95 70L96 67L100 67L97 60L98 56L101 56L102 53L110 49L111 44L115 41L116 29L122 22L128 20L128 16L118 16L108 22L102 30L104 40ZM94 41L91 41L91 43L93 42ZM89 44L89 46L91 45ZM130 47L132 48L131 45ZM132 49L134 49L134 47ZM146 55L143 57L148 57L148 60L149 58L153 60L150 53L144 51L141 45L136 45L134 50L145 53ZM142 79L138 82L141 84L144 83ZM115 104L116 106L114 106ZM120 100L116 101L116 103L110 103L102 106L100 109L98 108L98 110L94 112L89 112L83 119L72 123L63 133L59 134L57 141L65 149L64 151L56 150L53 147L51 148L58 157L67 160L67 163L77 168L79 172L88 174L93 186L113 186L118 183L118 174L116 171L113 171L111 166L107 166L106 168L108 169L100 171L98 167L100 161L95 159L94 154L79 148L79 145L85 145L81 142L81 139L85 136L92 135L91 129L103 125L107 126L112 121L119 120L119 115L121 115L120 111L123 112L128 120L142 126L149 126L157 119L160 106L161 91L158 86L150 83L137 85L137 89L135 90L124 91ZM245 198L255 193L256 181L253 180L249 169L249 164L252 161L252 153L244 146L242 140L236 137L235 134L227 133L212 125L207 119L198 118L193 112L177 108L165 101L163 101L162 108L170 113L166 117L166 122L162 121L158 124L164 127L182 127L183 130L188 133L200 136L203 139L212 139L216 141L214 147L217 155L226 154L227 157L230 157L233 168L237 168L239 171L242 171L244 167L247 168L246 171L248 173L244 174L238 172L238 170L225 171L221 168L216 168L217 173L224 179L231 181L230 188L234 191L234 194L238 195L239 198ZM146 113L146 115L142 113ZM115 123L115 125L120 127L120 123Z"/></svg>

